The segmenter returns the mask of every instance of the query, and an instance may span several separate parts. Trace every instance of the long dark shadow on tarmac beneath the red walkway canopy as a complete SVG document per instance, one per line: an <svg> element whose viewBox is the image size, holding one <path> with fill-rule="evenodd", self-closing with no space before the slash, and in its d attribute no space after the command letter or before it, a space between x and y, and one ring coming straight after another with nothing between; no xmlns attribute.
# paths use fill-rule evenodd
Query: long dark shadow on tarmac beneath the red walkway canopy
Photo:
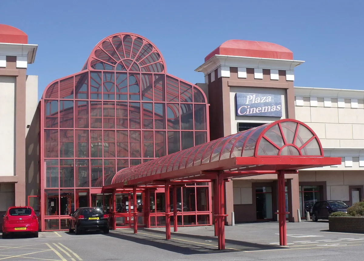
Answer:
<svg viewBox="0 0 364 261"><path fill-rule="evenodd" d="M138 234L134 234L132 229L121 229L113 230L111 233L105 235L185 255L281 249L280 246L255 244L227 239L225 240L226 249L218 250L217 237L196 236L172 232L171 240L166 240L165 232L145 228L139 228Z"/></svg>

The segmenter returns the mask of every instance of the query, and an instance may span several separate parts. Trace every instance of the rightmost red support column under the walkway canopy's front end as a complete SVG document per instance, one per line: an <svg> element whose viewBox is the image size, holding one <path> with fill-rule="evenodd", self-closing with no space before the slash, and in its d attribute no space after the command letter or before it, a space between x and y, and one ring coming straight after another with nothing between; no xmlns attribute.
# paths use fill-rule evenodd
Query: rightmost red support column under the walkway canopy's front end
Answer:
<svg viewBox="0 0 364 261"><path fill-rule="evenodd" d="M286 234L286 200L285 200L285 184L284 184L284 170L278 172L278 218L279 218L279 244L281 246L287 245Z"/></svg>

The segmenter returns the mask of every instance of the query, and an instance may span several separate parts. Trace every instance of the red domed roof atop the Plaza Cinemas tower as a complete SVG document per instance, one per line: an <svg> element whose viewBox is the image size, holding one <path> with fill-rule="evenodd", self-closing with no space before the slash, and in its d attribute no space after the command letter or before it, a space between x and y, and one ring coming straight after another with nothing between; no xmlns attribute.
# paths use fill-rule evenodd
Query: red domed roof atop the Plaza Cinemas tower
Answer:
<svg viewBox="0 0 364 261"><path fill-rule="evenodd" d="M247 40L228 40L221 44L214 51L205 57L205 62L214 55L232 55L257 58L293 60L293 53L289 49L273 43L247 41Z"/></svg>

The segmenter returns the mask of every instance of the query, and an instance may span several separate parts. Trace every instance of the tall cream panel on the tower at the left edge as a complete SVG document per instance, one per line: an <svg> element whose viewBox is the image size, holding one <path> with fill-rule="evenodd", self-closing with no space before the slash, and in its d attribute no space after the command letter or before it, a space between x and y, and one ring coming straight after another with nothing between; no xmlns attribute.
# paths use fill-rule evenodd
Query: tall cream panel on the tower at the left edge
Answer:
<svg viewBox="0 0 364 261"><path fill-rule="evenodd" d="M12 76L0 76L0 176L14 176L15 82Z"/></svg>

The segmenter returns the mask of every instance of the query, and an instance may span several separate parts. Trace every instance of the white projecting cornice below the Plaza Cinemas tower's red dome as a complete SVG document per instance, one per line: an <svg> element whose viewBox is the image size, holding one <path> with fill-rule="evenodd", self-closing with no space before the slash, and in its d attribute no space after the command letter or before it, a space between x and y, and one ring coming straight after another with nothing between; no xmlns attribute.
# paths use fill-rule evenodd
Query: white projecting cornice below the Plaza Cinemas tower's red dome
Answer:
<svg viewBox="0 0 364 261"><path fill-rule="evenodd" d="M195 71L203 72L205 76L220 66L293 71L294 67L304 62L305 61L215 55L196 68Z"/></svg>

